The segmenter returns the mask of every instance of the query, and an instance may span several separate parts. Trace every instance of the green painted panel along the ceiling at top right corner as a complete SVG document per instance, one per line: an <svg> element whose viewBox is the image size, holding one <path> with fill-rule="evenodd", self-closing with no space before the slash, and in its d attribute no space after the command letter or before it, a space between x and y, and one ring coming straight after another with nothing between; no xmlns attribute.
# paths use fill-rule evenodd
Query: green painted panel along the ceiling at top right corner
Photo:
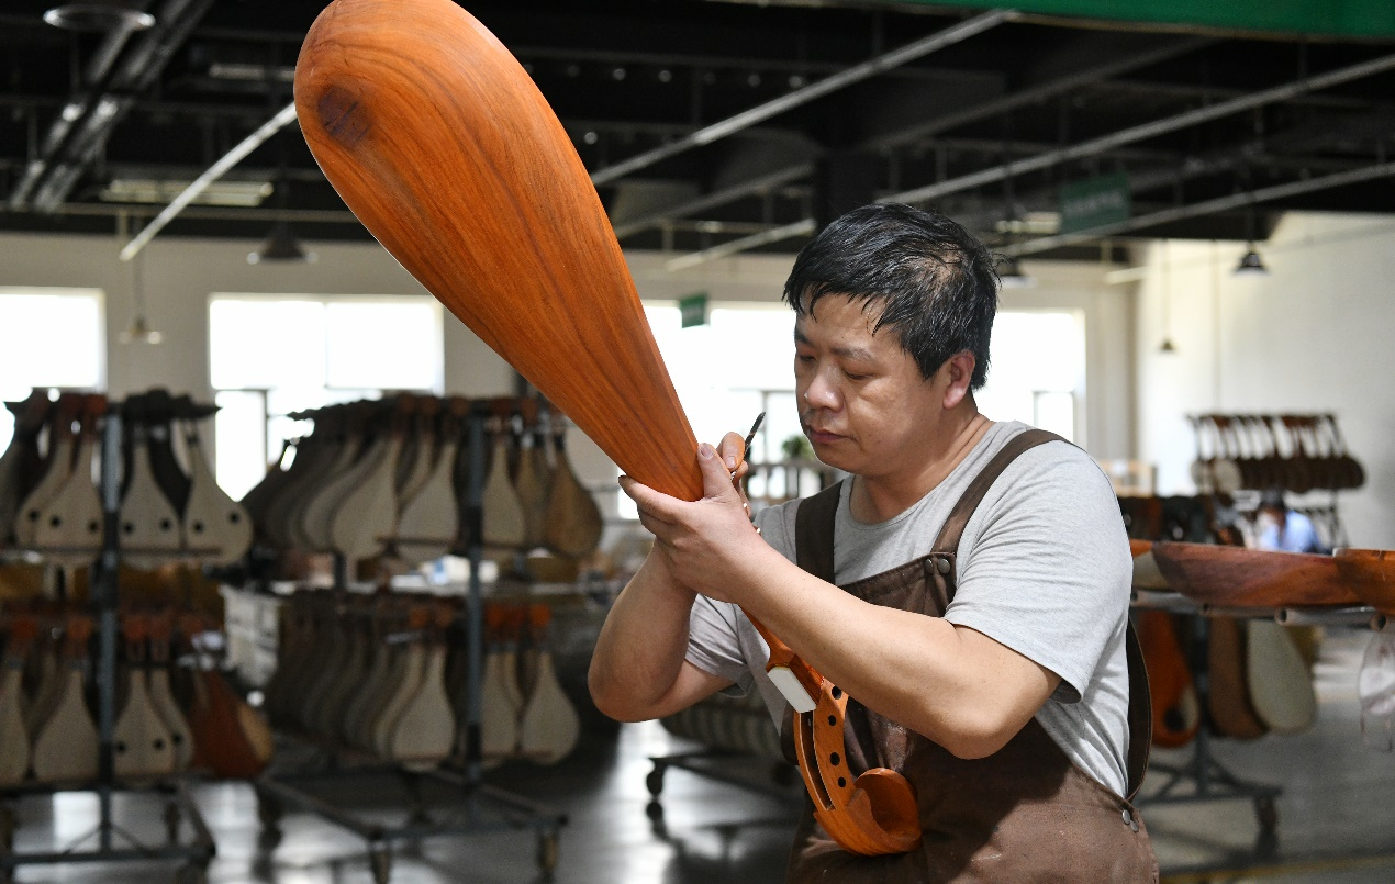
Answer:
<svg viewBox="0 0 1395 884"><path fill-rule="evenodd" d="M1395 0L911 0L1042 15L1331 38L1395 39Z"/></svg>

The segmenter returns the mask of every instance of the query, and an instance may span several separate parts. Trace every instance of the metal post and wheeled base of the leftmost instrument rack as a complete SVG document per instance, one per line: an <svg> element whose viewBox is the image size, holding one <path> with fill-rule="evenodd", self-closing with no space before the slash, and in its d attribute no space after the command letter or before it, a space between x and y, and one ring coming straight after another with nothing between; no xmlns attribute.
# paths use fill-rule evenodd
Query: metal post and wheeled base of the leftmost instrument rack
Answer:
<svg viewBox="0 0 1395 884"><path fill-rule="evenodd" d="M11 881L20 866L56 863L98 863L130 860L174 860L177 884L202 884L216 852L213 838L204 824L197 805L188 793L186 779L160 778L146 785L119 782L113 765L112 733L116 722L116 609L117 565L121 559L119 542L120 517L120 449L121 418L116 410L106 416L102 434L102 552L98 559L96 580L92 587L92 607L98 620L98 777L93 782L24 784L0 791L0 881ZM61 849L17 852L14 834L20 824L17 805L25 796L56 792L93 792L98 798L96 827ZM112 799L117 793L145 793L163 805L166 839L163 844L142 844L116 824ZM193 831L190 841L180 838L183 823ZM82 849L95 841L95 849Z"/></svg>

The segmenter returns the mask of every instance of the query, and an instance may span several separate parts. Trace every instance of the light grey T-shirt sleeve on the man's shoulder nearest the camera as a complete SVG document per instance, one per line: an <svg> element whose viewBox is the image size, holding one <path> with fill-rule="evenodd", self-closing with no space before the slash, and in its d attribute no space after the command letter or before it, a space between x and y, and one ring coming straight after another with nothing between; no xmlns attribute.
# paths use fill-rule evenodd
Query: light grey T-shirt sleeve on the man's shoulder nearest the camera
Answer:
<svg viewBox="0 0 1395 884"><path fill-rule="evenodd" d="M1062 678L1078 703L1129 609L1133 562L1109 480L1080 449L1048 443L995 482L960 545L944 618Z"/></svg>

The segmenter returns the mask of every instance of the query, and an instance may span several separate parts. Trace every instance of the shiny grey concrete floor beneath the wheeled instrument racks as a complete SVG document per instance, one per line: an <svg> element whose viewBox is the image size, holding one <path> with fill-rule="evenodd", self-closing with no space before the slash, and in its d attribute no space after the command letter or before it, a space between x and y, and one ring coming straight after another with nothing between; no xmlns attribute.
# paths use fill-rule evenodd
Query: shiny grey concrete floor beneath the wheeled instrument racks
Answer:
<svg viewBox="0 0 1395 884"><path fill-rule="evenodd" d="M1395 881L1395 756L1364 749L1357 731L1355 672L1370 633L1334 632L1317 668L1320 719L1289 738L1233 745L1215 756L1244 779L1283 788L1272 839L1260 838L1244 799L1182 806L1144 805L1165 881L1272 881L1275 884L1389 884ZM682 770L671 770L663 813L651 817L644 779L650 756L691 745L654 724L625 726L618 740L590 739L554 768L508 765L490 781L569 814L559 841L561 883L724 884L783 880L799 792L776 786L760 795ZM1155 753L1183 763L1189 750ZM771 785L764 765L753 777ZM1156 788L1149 778L1145 791ZM384 795L399 791L392 777L325 785L319 795L340 807L372 813ZM441 802L449 788L431 789ZM218 842L209 881L349 884L372 881L364 841L304 813L287 813L275 846L261 838L252 789L206 784L195 789ZM158 807L146 799L121 799L119 824L137 838L159 844ZM381 807L379 807L381 809ZM89 831L95 799L71 793L20 805L15 848L50 849ZM384 821L402 814L382 810ZM492 831L399 842L392 881L480 884L543 880L531 831ZM29 866L18 881L146 883L173 881L169 863Z"/></svg>

